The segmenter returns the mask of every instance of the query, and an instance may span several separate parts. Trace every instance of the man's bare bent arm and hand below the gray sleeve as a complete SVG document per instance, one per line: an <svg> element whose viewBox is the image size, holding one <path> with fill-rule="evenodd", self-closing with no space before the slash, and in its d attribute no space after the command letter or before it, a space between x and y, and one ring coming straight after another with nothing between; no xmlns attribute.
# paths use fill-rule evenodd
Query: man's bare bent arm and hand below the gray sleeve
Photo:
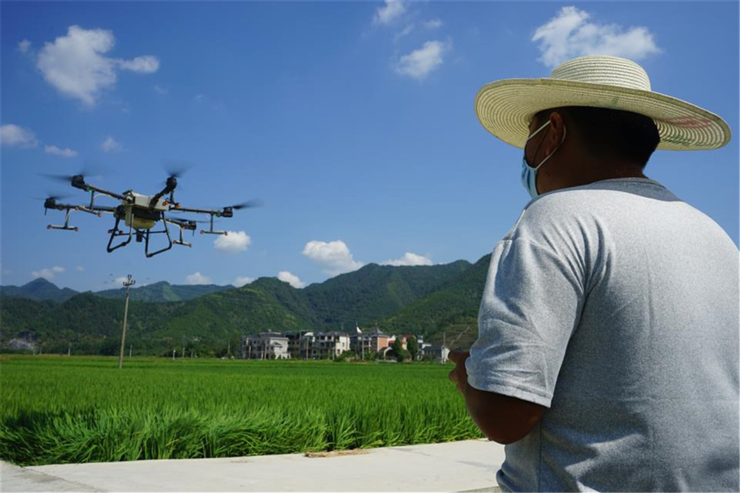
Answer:
<svg viewBox="0 0 740 493"><path fill-rule="evenodd" d="M449 358L455 369L449 378L457 383L457 391L465 396L468 413L488 440L514 443L529 434L548 408L508 395L485 392L468 384L465 360L469 352L451 351Z"/></svg>

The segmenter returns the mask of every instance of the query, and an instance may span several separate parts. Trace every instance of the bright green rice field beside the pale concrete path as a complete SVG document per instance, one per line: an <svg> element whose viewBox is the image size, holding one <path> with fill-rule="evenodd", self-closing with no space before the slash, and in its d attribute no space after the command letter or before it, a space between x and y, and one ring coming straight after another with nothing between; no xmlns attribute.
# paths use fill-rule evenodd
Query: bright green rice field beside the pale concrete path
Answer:
<svg viewBox="0 0 740 493"><path fill-rule="evenodd" d="M482 437L451 365L3 355L0 457L23 466Z"/></svg>

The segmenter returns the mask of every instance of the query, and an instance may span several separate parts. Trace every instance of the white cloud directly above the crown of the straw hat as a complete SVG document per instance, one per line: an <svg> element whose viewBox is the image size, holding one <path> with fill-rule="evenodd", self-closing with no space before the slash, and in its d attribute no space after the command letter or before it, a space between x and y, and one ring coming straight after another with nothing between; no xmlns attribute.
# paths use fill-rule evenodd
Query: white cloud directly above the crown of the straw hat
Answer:
<svg viewBox="0 0 740 493"><path fill-rule="evenodd" d="M562 7L554 18L537 27L532 41L539 41L542 56L538 60L555 67L576 56L611 55L639 60L661 51L646 27L625 30L617 24L595 24L588 21L590 17L585 10Z"/></svg>

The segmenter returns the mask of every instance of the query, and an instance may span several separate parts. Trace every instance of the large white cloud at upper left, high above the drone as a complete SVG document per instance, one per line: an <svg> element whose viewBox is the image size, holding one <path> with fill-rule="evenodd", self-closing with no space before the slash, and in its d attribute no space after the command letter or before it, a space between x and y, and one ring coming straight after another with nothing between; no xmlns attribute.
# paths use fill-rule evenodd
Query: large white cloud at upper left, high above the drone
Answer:
<svg viewBox="0 0 740 493"><path fill-rule="evenodd" d="M117 70L152 73L159 68L159 61L153 56L132 60L104 56L114 46L115 36L110 30L70 26L67 36L44 44L36 66L60 93L92 106L103 90L115 87Z"/></svg>

